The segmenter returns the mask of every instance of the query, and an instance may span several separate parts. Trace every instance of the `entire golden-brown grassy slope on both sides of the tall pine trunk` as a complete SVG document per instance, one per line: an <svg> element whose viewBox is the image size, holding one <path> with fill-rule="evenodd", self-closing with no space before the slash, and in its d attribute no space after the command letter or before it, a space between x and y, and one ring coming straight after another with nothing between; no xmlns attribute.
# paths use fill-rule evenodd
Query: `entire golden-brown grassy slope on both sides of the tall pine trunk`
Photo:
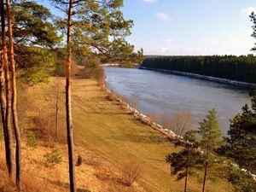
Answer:
<svg viewBox="0 0 256 192"><path fill-rule="evenodd" d="M55 174L51 174L50 172L53 171L44 167L42 158L39 158L41 163L37 163L39 162L37 156L33 155L44 154L49 148L47 142L42 143L44 147L38 147L34 152L24 147L23 154L26 154L26 161L24 160L24 164L27 164L26 169L29 169L28 166L38 169L37 164L40 165L41 170L46 170L44 177L48 177L52 184L55 184L57 183L55 178L50 176L58 175L58 188L62 183L60 191L66 191L68 190L68 174L66 139L64 138L66 132L65 80L60 79L59 83L61 137L59 141L64 144L56 143L56 147L60 148L63 155L61 166L55 167ZM19 110L20 127L24 129L23 137L25 137L26 130L33 127L32 117L38 113L54 121L56 78L51 78L49 84L38 84L26 88L26 91L24 89L20 91L22 93L19 104L22 108ZM165 136L150 126L143 125L131 113L122 109L119 102L110 101L108 95L97 84L96 79L73 79L72 98L75 154L76 156L81 154L85 162L82 167L76 168L79 188L98 192L183 191L183 180L177 181L175 176L170 175L170 165L165 161L166 154L177 150ZM54 127L50 127L50 130L53 131ZM52 141L49 140L49 143ZM30 157L33 159L30 160ZM35 160L37 162L34 162ZM131 188L124 187L117 182L127 161L141 166L143 170L142 177ZM202 172L189 177L188 191L201 191L202 177ZM224 179L215 179L214 182L208 180L207 191L229 192L232 191L232 186Z"/></svg>

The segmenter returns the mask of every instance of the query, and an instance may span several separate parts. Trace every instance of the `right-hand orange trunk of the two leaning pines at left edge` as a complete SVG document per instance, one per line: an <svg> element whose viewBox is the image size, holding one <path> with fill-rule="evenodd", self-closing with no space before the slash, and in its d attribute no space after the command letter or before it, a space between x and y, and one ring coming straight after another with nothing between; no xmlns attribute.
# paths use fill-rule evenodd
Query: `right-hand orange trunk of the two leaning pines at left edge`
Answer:
<svg viewBox="0 0 256 192"><path fill-rule="evenodd" d="M12 28L12 15L10 1L6 1L7 17L8 17L8 35L9 35L9 60L11 66L12 74L12 101L11 109L13 115L13 125L15 130L15 140L16 140L16 185L21 189L21 139L20 139L20 129L18 125L18 116L16 109L17 101L17 90L16 90L16 72L15 72L15 55L14 55L14 43L13 43L13 28Z"/></svg>

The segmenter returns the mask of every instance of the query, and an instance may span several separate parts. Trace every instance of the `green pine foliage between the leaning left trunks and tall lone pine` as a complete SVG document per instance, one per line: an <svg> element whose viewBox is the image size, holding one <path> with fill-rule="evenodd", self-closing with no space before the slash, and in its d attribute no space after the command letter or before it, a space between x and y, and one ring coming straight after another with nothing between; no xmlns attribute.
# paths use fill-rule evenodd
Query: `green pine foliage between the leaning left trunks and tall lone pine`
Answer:
<svg viewBox="0 0 256 192"><path fill-rule="evenodd" d="M60 44L54 16L35 1L11 1L16 68L26 84L47 82L46 67L55 65L52 48Z"/></svg>

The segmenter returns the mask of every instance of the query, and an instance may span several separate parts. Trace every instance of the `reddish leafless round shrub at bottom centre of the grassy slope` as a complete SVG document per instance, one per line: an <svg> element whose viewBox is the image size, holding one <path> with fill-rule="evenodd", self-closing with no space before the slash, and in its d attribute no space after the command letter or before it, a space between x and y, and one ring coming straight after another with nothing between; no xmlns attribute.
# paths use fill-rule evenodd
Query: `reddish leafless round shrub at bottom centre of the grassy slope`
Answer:
<svg viewBox="0 0 256 192"><path fill-rule="evenodd" d="M142 175L142 169L140 166L133 162L126 162L122 169L121 183L130 187L132 183L137 181Z"/></svg>

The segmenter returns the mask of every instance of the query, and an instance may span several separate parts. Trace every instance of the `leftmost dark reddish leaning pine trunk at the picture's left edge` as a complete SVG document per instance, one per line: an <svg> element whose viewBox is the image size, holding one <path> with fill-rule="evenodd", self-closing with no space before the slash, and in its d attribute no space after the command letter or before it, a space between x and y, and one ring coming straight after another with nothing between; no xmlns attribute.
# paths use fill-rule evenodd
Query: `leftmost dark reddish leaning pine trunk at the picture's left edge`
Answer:
<svg viewBox="0 0 256 192"><path fill-rule="evenodd" d="M4 141L5 141L5 154L6 164L8 166L9 176L13 174L13 150L12 150L12 130L10 126L10 94L9 94L9 65L6 49L5 37L5 19L4 19L4 4L1 0L1 24L2 24L2 49L3 49L3 70L5 79L5 93L6 93L6 111L4 121Z"/></svg>

